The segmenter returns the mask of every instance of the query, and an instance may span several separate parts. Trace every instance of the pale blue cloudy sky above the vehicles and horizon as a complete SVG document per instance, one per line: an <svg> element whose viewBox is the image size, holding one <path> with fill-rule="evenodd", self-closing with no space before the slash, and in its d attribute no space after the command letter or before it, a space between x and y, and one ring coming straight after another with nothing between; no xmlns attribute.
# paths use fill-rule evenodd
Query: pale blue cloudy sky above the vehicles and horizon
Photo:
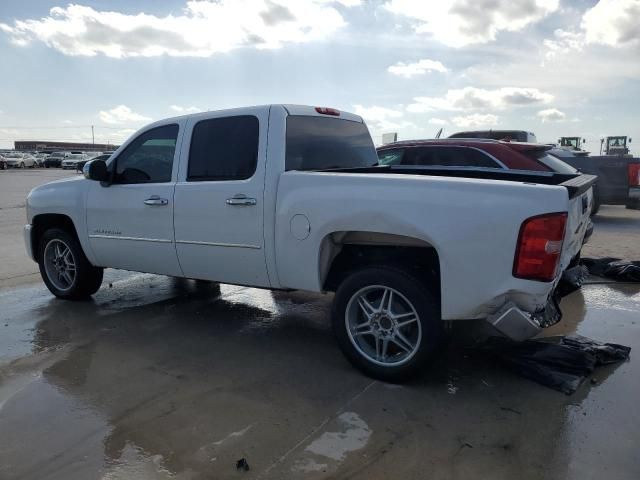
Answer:
<svg viewBox="0 0 640 480"><path fill-rule="evenodd" d="M493 128L640 153L640 0L78 1L0 1L0 148L298 103L376 144Z"/></svg>

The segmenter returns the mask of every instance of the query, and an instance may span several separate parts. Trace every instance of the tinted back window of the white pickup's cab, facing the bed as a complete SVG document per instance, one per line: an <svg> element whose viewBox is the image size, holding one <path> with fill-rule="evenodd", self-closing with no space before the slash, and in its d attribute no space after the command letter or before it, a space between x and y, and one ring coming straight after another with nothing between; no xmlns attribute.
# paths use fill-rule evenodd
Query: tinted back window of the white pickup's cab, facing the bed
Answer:
<svg viewBox="0 0 640 480"><path fill-rule="evenodd" d="M324 117L287 117L286 170L377 164L376 150L364 123Z"/></svg>

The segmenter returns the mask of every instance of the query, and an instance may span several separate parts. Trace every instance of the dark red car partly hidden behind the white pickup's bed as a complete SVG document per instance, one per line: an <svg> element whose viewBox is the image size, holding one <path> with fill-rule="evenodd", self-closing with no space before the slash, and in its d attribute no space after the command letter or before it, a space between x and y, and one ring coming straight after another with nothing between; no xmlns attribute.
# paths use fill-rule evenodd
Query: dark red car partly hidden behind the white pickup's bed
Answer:
<svg viewBox="0 0 640 480"><path fill-rule="evenodd" d="M407 140L378 148L380 165L499 168L577 173L538 143L483 139Z"/></svg>

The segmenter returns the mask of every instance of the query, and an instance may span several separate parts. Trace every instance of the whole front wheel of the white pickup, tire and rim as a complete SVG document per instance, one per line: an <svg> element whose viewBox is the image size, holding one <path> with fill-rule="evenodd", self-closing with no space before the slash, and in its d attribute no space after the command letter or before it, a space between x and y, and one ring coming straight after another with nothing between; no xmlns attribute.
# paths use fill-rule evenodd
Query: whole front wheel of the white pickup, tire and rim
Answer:
<svg viewBox="0 0 640 480"><path fill-rule="evenodd" d="M65 300L80 300L98 291L103 269L89 263L76 237L51 228L40 239L40 275L51 293Z"/></svg>

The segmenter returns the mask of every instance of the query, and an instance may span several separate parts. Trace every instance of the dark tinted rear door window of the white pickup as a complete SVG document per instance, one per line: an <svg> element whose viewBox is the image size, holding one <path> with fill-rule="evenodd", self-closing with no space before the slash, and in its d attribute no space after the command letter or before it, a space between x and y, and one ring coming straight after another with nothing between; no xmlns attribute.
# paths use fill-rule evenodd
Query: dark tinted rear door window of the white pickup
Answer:
<svg viewBox="0 0 640 480"><path fill-rule="evenodd" d="M251 178L258 164L258 135L253 115L198 122L191 136L187 181Z"/></svg>

